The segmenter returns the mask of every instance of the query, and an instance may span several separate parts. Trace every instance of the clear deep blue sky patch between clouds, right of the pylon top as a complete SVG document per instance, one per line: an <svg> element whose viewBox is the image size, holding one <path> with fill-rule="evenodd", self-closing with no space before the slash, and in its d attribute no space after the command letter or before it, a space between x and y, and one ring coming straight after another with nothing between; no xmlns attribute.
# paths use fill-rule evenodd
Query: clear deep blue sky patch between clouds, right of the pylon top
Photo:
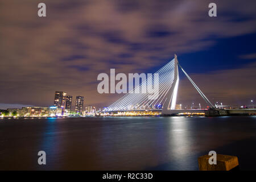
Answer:
<svg viewBox="0 0 256 182"><path fill-rule="evenodd" d="M187 73L208 73L240 68L256 60L256 55L250 59L243 57L256 52L256 34L232 38L209 38L209 40L214 40L214 45L203 50L180 54L177 52L178 60ZM171 55L170 60L173 58L174 56ZM158 69L159 65L148 72L155 72ZM180 76L183 77L183 74Z"/></svg>

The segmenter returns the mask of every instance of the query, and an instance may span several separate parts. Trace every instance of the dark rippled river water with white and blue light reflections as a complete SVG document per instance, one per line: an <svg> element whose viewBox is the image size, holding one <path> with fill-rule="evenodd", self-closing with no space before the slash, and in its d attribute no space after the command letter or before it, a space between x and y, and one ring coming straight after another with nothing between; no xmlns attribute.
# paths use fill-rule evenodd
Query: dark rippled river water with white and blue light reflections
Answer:
<svg viewBox="0 0 256 182"><path fill-rule="evenodd" d="M212 150L256 170L256 116L0 119L1 170L198 170Z"/></svg>

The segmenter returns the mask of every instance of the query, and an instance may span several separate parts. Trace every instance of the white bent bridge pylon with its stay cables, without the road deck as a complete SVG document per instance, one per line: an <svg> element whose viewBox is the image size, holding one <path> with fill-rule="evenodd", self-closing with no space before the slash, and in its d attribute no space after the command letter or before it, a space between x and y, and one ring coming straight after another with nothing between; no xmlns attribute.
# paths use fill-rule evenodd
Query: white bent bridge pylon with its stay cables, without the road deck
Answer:
<svg viewBox="0 0 256 182"><path fill-rule="evenodd" d="M104 112L112 111L130 111L130 110L162 110L162 113L175 113L177 94L179 89L179 67L181 71L187 76L188 80L191 81L192 85L195 87L197 92L203 97L205 102L211 107L214 107L207 97L201 92L198 86L193 82L193 80L188 76L184 69L180 66L177 56L175 54L174 59L169 63L160 68L156 73L158 73L158 85L154 85L153 77L144 80L138 86L135 86L133 90L130 90L125 96L119 98L112 105L106 107ZM154 74L155 75L155 74ZM154 76L155 80L155 76ZM145 89L147 85L151 84L152 87L158 86L158 97L154 100L150 99L152 97L152 92L147 93L136 93L136 89ZM171 111L171 112L170 112Z"/></svg>

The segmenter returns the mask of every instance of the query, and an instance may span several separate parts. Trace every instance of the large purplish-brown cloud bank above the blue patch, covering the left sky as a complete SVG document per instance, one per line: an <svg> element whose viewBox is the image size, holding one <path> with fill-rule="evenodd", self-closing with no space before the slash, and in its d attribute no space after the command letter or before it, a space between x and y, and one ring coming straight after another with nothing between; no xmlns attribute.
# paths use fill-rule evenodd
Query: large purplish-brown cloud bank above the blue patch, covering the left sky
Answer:
<svg viewBox="0 0 256 182"><path fill-rule="evenodd" d="M63 90L108 105L119 96L97 93L98 74L146 72L174 53L212 46L210 35L256 28L255 1L216 1L217 18L208 16L209 1L46 0L46 18L38 3L1 1L1 102L47 106Z"/></svg>

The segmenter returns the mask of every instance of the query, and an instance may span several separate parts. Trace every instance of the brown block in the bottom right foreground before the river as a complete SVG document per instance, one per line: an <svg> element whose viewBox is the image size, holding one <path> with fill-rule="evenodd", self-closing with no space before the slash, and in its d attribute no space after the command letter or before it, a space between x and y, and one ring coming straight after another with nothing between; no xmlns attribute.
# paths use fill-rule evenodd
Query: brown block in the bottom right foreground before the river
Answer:
<svg viewBox="0 0 256 182"><path fill-rule="evenodd" d="M209 164L210 155L203 155L198 158L200 171L229 171L238 166L237 156L217 154L217 164Z"/></svg>

